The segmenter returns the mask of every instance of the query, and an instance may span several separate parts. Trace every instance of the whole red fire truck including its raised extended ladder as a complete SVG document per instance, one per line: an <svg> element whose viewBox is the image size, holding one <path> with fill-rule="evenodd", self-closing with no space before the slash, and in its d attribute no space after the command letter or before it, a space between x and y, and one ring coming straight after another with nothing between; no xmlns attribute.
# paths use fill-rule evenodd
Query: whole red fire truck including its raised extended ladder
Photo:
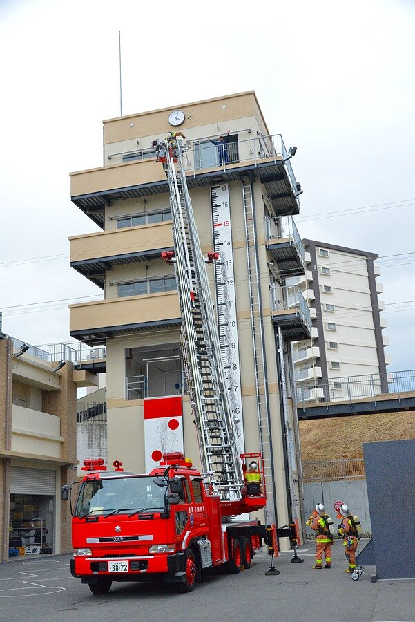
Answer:
<svg viewBox="0 0 415 622"><path fill-rule="evenodd" d="M104 460L84 461L73 513L73 576L93 594L106 594L113 582L164 581L190 592L206 570L230 573L248 569L255 552L267 542L271 574L278 535L293 536L235 517L266 507L262 489L247 493L244 473L255 460L264 478L260 453L239 454L235 420L229 405L218 330L191 199L182 163L186 146L164 142L165 170L173 216L174 252L162 258L175 266L182 313L182 349L191 409L200 445L202 472L180 452L166 453L148 474L126 473ZM64 486L62 499L70 497Z"/></svg>

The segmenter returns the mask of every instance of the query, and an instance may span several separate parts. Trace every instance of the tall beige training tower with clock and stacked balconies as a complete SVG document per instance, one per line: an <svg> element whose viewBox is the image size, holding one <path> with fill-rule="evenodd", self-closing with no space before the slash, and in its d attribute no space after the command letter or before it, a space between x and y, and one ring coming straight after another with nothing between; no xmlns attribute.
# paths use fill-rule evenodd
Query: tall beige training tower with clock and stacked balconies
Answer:
<svg viewBox="0 0 415 622"><path fill-rule="evenodd" d="M70 238L70 263L103 299L70 305L70 333L106 346L108 462L143 472L175 449L200 466L175 272L160 258L173 250L171 207L152 144L175 129L202 252L220 253L208 279L240 450L267 453L285 525L300 498L290 343L310 337L311 320L286 283L305 272L296 149L269 132L253 91L104 121L103 165L70 175L73 203L102 229ZM228 130L220 158L210 139Z"/></svg>

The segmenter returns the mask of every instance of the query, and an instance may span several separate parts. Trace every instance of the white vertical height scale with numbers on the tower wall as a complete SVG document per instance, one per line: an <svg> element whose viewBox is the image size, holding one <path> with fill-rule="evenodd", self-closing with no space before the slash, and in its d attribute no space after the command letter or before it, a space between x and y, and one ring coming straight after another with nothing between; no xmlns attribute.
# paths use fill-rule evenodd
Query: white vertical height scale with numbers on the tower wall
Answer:
<svg viewBox="0 0 415 622"><path fill-rule="evenodd" d="M215 285L220 352L235 420L238 449L240 453L244 453L235 271L233 270L231 209L227 184L211 187L211 208L213 250L219 253L219 261L215 262Z"/></svg>

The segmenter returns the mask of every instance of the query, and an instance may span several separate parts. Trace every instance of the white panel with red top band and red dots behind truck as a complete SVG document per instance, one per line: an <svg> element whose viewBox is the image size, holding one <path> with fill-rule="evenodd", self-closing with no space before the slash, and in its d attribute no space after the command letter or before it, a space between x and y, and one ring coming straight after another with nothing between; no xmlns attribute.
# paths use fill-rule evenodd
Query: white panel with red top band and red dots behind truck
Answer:
<svg viewBox="0 0 415 622"><path fill-rule="evenodd" d="M184 451L182 396L144 399L146 472L160 466L163 453Z"/></svg>

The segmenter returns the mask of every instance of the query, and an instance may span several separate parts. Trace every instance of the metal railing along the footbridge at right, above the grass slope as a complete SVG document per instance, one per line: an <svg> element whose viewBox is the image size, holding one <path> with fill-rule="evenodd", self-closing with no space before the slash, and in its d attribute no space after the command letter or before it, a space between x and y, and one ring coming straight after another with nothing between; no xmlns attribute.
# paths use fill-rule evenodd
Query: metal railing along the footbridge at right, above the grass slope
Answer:
<svg viewBox="0 0 415 622"><path fill-rule="evenodd" d="M310 399L307 387L297 386L298 406L307 402L333 403L358 402L359 399L371 398L376 402L380 395L394 394L400 397L403 393L415 393L415 370L386 372L382 374L366 374L360 376L344 376L321 379L318 388L323 389L323 398Z"/></svg>

